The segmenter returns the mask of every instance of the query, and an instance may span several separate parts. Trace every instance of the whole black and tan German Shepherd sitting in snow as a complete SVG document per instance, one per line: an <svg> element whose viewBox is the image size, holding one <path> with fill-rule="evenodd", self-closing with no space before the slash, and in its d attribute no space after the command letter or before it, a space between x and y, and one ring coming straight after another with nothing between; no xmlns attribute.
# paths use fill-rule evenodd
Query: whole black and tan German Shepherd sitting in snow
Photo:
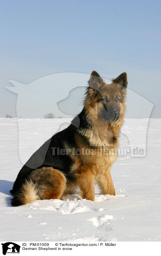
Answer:
<svg viewBox="0 0 161 256"><path fill-rule="evenodd" d="M63 200L77 187L82 198L94 201L95 181L103 194L115 195L110 169L117 159L127 75L122 73L107 85L93 71L88 83L81 113L45 142L19 171L10 190L12 206L36 199Z"/></svg>

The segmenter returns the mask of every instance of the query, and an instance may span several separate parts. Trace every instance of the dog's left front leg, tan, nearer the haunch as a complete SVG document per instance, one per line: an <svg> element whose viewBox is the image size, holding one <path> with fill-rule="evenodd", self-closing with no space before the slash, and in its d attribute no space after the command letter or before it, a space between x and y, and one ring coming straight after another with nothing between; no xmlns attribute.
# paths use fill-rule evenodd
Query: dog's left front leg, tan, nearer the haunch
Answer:
<svg viewBox="0 0 161 256"><path fill-rule="evenodd" d="M81 194L83 198L87 200L94 201L95 200L95 173L94 171L87 167L83 166L76 173L76 178L78 182L78 186L81 190Z"/></svg>

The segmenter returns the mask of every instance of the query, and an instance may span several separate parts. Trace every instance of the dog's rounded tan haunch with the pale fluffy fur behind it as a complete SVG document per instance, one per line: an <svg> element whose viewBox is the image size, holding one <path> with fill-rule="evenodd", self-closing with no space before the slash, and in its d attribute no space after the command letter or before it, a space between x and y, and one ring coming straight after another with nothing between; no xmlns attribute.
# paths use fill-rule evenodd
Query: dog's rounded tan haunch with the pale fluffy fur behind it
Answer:
<svg viewBox="0 0 161 256"><path fill-rule="evenodd" d="M22 204L29 204L37 199L59 199L66 189L64 174L53 167L35 169L30 178L23 184L18 196Z"/></svg>

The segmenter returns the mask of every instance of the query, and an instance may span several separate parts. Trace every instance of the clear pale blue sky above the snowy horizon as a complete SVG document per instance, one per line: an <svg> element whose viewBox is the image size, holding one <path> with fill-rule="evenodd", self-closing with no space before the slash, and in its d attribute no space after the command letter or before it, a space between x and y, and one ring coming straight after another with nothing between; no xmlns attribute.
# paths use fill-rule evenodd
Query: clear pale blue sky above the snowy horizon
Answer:
<svg viewBox="0 0 161 256"><path fill-rule="evenodd" d="M106 78L127 72L128 87L154 104L151 117L161 118L160 1L2 0L0 7L0 117L16 117L8 80L28 84L57 72L97 70ZM62 89L68 91L56 88ZM147 117L142 105L140 113Z"/></svg>

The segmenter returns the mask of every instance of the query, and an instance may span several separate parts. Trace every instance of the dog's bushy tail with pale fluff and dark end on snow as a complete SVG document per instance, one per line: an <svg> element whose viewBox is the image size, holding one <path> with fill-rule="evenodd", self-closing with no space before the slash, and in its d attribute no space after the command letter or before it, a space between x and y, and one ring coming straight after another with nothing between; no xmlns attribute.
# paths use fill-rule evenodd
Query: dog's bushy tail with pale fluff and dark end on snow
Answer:
<svg viewBox="0 0 161 256"><path fill-rule="evenodd" d="M29 204L37 199L40 199L37 187L32 180L29 180L23 184L19 192L14 194L14 198L11 199L11 204L12 206L20 206Z"/></svg>

